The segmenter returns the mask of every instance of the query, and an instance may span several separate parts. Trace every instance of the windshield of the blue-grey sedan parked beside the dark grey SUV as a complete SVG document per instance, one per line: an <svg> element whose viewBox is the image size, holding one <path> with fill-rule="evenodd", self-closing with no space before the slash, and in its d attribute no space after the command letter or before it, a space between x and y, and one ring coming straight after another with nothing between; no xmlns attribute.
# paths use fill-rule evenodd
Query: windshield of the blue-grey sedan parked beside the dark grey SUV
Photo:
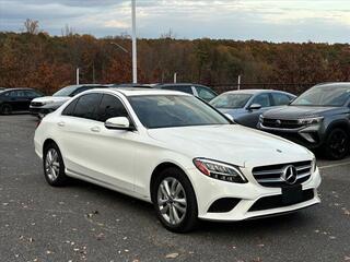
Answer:
<svg viewBox="0 0 350 262"><path fill-rule="evenodd" d="M249 94L222 94L209 104L217 108L243 108L250 99Z"/></svg>

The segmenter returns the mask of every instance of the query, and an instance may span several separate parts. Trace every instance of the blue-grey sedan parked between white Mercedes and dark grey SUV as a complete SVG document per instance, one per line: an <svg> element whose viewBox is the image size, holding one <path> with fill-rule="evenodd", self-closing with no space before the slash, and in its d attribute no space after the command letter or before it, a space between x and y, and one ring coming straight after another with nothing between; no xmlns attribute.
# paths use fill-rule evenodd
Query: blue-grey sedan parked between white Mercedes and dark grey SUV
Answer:
<svg viewBox="0 0 350 262"><path fill-rule="evenodd" d="M294 95L273 90L230 91L217 96L209 104L230 115L240 124L256 128L260 115L276 106L284 106Z"/></svg>

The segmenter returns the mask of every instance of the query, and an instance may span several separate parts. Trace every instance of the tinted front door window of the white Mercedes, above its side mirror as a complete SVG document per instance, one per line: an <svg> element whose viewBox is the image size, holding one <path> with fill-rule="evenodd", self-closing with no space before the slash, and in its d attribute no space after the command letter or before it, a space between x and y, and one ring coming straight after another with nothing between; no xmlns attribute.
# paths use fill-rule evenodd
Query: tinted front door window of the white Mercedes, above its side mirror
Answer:
<svg viewBox="0 0 350 262"><path fill-rule="evenodd" d="M117 97L103 95L97 110L97 120L105 122L107 119L114 117L128 117L128 112Z"/></svg>

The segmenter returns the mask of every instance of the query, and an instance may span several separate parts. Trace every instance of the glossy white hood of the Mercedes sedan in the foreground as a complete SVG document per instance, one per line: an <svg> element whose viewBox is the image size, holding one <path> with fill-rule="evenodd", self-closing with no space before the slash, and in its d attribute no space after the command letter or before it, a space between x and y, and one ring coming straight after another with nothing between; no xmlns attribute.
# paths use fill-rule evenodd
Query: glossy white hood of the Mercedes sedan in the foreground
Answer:
<svg viewBox="0 0 350 262"><path fill-rule="evenodd" d="M273 165L312 158L312 153L288 140L240 124L149 129L163 147L187 156L237 166Z"/></svg>

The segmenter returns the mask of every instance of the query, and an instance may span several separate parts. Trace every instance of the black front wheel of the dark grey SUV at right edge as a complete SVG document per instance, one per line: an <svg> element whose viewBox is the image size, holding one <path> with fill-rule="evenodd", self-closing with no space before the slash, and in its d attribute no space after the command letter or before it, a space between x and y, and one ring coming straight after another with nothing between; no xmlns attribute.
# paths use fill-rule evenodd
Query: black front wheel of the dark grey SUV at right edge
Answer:
<svg viewBox="0 0 350 262"><path fill-rule="evenodd" d="M336 128L329 132L324 146L327 158L343 159L349 154L350 138L343 129Z"/></svg>

